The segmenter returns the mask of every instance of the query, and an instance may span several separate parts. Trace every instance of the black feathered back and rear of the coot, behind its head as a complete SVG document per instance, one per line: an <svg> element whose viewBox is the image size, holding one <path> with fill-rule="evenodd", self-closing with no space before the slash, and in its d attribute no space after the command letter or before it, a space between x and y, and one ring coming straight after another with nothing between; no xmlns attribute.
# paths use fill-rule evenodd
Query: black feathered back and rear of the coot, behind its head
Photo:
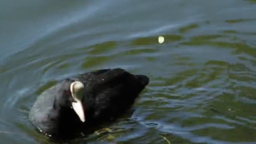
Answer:
<svg viewBox="0 0 256 144"><path fill-rule="evenodd" d="M124 69L103 69L85 73L79 79L85 83L85 111L93 115L93 120L124 113L149 83L148 77Z"/></svg>

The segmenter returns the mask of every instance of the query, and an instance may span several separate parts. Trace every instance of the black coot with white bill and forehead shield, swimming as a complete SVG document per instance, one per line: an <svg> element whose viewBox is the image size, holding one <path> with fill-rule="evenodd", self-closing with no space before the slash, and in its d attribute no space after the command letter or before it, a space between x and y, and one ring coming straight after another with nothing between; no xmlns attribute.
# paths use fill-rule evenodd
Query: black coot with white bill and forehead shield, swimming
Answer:
<svg viewBox="0 0 256 144"><path fill-rule="evenodd" d="M67 137L122 115L148 83L120 68L66 78L37 98L29 118L48 136Z"/></svg>

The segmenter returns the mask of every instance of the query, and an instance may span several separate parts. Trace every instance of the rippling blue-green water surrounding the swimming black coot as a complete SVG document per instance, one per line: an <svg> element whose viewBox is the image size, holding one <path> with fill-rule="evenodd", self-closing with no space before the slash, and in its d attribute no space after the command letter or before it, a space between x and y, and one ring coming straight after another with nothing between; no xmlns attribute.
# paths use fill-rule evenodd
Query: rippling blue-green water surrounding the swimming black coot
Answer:
<svg viewBox="0 0 256 144"><path fill-rule="evenodd" d="M255 13L256 0L0 1L0 143L50 143L28 120L36 97L113 67L150 84L132 116L73 143L256 143Z"/></svg>

